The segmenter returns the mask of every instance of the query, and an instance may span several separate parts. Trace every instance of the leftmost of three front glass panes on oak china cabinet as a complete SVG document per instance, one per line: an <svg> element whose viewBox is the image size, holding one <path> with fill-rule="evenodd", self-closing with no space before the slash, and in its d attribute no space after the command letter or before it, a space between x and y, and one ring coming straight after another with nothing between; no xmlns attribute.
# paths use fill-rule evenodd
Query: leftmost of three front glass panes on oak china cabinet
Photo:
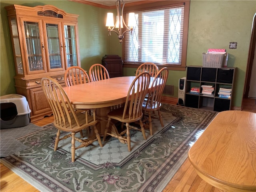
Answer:
<svg viewBox="0 0 256 192"><path fill-rule="evenodd" d="M24 21L24 30L29 71L44 70L41 48L41 45L43 47L43 44L40 40L39 23Z"/></svg>

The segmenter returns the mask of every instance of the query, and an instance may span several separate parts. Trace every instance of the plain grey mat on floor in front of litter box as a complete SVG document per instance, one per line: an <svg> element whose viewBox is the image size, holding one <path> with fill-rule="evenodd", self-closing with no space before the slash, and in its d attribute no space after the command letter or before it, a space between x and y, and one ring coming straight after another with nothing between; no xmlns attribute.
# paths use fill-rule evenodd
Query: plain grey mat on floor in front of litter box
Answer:
<svg viewBox="0 0 256 192"><path fill-rule="evenodd" d="M18 141L17 138L31 134L41 129L43 128L40 126L36 126L32 123L29 123L26 126L18 127L18 128L1 129L0 130L0 146L1 146L0 156L6 157L28 148L28 146Z"/></svg>

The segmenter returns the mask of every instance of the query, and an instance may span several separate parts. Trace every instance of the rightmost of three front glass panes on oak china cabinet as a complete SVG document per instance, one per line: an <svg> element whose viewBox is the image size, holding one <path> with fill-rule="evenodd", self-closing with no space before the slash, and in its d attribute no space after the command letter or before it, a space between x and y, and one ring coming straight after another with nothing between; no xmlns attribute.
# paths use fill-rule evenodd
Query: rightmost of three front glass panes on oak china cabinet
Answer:
<svg viewBox="0 0 256 192"><path fill-rule="evenodd" d="M67 67L78 66L75 26L64 25L64 37Z"/></svg>

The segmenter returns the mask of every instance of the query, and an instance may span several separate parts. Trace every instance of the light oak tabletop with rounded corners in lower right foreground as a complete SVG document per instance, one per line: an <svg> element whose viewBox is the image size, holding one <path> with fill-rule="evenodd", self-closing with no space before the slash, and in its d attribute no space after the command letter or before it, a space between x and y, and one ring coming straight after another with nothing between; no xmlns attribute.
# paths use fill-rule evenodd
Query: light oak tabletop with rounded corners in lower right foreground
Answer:
<svg viewBox="0 0 256 192"><path fill-rule="evenodd" d="M256 113L223 111L188 158L203 180L227 192L256 192Z"/></svg>

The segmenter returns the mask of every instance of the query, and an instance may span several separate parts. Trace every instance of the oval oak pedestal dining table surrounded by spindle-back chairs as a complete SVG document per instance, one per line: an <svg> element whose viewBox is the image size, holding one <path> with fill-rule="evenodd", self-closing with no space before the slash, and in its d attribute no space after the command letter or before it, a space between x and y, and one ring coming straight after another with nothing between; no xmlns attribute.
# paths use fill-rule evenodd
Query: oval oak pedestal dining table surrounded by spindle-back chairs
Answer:
<svg viewBox="0 0 256 192"><path fill-rule="evenodd" d="M135 77L115 77L85 84L66 86L63 89L75 109L96 109L96 118L99 122L96 127L99 134L103 136L110 107L123 104L126 101L128 90ZM150 82L152 81L153 77L150 78ZM111 133L118 134L114 123L111 123L110 127ZM120 142L123 143L122 140Z"/></svg>

